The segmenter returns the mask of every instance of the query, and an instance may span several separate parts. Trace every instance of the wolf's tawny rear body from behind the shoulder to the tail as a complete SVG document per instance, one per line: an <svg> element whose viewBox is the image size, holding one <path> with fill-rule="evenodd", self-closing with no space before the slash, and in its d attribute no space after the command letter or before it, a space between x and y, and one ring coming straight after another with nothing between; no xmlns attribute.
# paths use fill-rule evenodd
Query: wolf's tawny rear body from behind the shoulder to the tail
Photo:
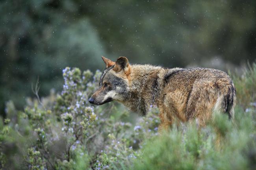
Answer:
<svg viewBox="0 0 256 170"><path fill-rule="evenodd" d="M199 116L205 122L212 111L234 117L236 89L225 72L211 68L174 68L165 74L163 81L164 94L170 94L165 101L173 102L174 109L170 112L178 113L181 118L184 114L186 120Z"/></svg>

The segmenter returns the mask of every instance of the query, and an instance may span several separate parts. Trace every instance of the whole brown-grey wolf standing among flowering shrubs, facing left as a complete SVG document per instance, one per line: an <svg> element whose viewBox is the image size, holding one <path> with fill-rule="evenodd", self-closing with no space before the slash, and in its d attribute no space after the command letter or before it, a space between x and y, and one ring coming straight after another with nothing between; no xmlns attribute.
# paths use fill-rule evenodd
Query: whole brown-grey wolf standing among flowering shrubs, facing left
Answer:
<svg viewBox="0 0 256 170"><path fill-rule="evenodd" d="M195 118L199 126L205 126L214 111L234 117L236 88L221 70L131 65L126 57L115 62L103 56L102 59L106 69L99 89L89 98L92 104L115 100L141 115L156 106L161 119L159 129L167 129L177 120Z"/></svg>

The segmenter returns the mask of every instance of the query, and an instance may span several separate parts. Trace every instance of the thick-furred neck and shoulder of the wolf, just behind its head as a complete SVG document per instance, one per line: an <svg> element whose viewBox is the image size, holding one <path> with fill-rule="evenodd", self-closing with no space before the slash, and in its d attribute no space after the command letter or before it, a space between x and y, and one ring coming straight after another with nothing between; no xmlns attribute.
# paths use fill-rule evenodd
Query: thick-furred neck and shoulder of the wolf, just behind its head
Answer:
<svg viewBox="0 0 256 170"><path fill-rule="evenodd" d="M167 72L162 67L152 65L132 65L130 74L130 95L124 103L132 111L147 114L156 105L160 96L162 77Z"/></svg>

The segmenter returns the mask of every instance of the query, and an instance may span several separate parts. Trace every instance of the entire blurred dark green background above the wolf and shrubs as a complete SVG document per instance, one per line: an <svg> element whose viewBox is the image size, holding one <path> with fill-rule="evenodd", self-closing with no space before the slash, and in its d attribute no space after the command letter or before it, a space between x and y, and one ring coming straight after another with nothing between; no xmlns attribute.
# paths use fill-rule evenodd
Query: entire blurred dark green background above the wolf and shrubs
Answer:
<svg viewBox="0 0 256 170"><path fill-rule="evenodd" d="M256 59L256 1L0 0L0 111L60 91L66 66L112 60L235 70Z"/></svg>

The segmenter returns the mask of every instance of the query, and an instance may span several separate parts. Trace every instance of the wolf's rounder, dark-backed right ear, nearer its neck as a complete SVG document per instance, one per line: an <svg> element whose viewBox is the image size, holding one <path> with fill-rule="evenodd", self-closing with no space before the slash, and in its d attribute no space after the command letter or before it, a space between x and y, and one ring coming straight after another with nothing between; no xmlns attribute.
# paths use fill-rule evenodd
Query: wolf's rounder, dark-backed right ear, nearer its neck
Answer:
<svg viewBox="0 0 256 170"><path fill-rule="evenodd" d="M120 72L121 70L124 70L124 73L126 75L129 75L131 73L131 67L128 59L126 57L119 57L115 62L113 70L115 72Z"/></svg>

